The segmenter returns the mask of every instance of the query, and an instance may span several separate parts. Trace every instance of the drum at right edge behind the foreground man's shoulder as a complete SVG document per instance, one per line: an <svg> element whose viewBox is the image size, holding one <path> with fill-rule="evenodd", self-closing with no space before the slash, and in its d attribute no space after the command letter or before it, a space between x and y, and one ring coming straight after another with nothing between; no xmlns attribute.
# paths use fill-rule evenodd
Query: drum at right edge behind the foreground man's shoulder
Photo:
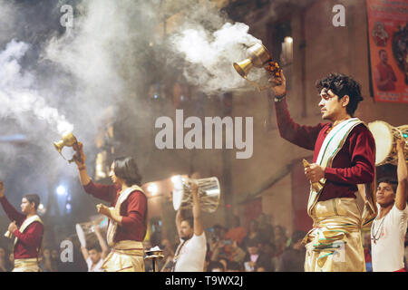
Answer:
<svg viewBox="0 0 408 290"><path fill-rule="evenodd" d="M395 144L398 139L405 140L405 152L408 151L408 125L393 127L385 121L373 121L368 124L368 129L373 133L375 140L375 166L397 164ZM406 156L405 161L408 161Z"/></svg>

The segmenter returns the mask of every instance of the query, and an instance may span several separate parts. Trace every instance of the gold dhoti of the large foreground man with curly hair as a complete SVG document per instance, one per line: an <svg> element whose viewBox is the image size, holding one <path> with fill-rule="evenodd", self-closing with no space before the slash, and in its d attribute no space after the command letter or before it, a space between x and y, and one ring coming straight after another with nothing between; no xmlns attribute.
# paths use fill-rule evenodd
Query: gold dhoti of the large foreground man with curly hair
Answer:
<svg viewBox="0 0 408 290"><path fill-rule="evenodd" d="M306 272L365 272L361 211L355 198L319 201L311 211Z"/></svg>

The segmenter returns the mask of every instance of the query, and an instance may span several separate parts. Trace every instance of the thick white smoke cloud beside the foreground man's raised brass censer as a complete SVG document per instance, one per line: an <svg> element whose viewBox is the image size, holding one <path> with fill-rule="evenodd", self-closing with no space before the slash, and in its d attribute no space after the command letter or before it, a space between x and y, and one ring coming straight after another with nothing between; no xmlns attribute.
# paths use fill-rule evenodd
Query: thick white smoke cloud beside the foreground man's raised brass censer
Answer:
<svg viewBox="0 0 408 290"><path fill-rule="evenodd" d="M199 17L195 21L189 20L178 34L170 38L174 53L181 53L187 62L183 71L186 80L209 94L236 91L248 86L232 63L247 58L246 49L249 46L262 43L248 34L247 24L224 22L219 30L211 32ZM250 78L259 80L264 74L252 70Z"/></svg>

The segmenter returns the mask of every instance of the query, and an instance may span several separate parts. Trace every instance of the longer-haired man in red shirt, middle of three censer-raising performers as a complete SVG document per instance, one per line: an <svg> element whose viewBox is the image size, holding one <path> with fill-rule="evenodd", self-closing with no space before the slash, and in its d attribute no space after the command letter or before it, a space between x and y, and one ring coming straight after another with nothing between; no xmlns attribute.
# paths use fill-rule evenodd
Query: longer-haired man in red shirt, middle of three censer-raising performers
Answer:
<svg viewBox="0 0 408 290"><path fill-rule="evenodd" d="M113 185L103 185L90 179L82 143L79 143L77 154L81 156L75 162L83 189L111 204L111 208L97 205L98 212L109 218L107 240L112 247L102 269L105 272L144 272L142 241L147 230L147 198L138 186L141 175L136 162L131 157L114 160L110 173Z"/></svg>

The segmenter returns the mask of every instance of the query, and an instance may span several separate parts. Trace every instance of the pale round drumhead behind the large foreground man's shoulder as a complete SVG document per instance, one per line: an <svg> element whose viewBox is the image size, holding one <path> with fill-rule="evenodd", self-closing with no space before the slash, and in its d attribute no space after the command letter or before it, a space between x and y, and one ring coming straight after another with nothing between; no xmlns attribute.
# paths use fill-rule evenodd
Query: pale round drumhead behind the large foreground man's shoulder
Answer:
<svg viewBox="0 0 408 290"><path fill-rule="evenodd" d="M373 121L368 124L368 129L372 132L375 140L375 165L379 165L386 160L393 150L393 131L384 121Z"/></svg>

